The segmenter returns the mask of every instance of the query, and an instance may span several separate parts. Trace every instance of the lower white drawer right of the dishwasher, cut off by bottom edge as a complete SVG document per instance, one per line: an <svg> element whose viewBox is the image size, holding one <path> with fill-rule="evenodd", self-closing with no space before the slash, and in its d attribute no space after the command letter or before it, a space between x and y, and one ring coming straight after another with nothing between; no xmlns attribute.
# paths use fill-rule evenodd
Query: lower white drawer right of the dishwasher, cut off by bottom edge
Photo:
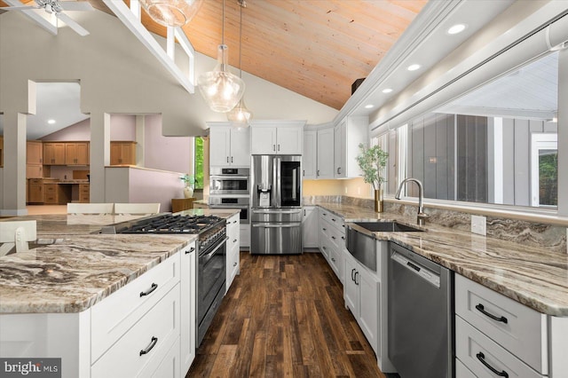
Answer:
<svg viewBox="0 0 568 378"><path fill-rule="evenodd" d="M509 374L509 378L542 378L530 366L459 316L455 317L455 357L479 378L497 376L492 368L496 372Z"/></svg>

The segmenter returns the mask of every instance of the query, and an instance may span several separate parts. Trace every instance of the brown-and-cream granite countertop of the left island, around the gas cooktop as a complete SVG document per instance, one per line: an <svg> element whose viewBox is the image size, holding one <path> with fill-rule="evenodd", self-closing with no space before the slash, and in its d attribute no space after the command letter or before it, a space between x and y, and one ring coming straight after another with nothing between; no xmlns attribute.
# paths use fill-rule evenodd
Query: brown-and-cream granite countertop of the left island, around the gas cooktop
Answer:
<svg viewBox="0 0 568 378"><path fill-rule="evenodd" d="M195 209L181 214L231 217L238 211ZM197 235L99 234L103 225L139 216L45 215L37 247L0 257L0 314L80 312L173 256Z"/></svg>

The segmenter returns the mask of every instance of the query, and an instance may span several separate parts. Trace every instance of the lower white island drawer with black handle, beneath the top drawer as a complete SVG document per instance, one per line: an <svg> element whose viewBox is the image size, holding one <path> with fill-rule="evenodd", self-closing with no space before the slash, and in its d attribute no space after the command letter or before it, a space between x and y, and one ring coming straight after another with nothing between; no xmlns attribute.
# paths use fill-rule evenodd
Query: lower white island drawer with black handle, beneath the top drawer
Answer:
<svg viewBox="0 0 568 378"><path fill-rule="evenodd" d="M91 377L148 376L142 373L156 371L178 338L179 285L176 285L95 362ZM179 355L179 348L172 351Z"/></svg>

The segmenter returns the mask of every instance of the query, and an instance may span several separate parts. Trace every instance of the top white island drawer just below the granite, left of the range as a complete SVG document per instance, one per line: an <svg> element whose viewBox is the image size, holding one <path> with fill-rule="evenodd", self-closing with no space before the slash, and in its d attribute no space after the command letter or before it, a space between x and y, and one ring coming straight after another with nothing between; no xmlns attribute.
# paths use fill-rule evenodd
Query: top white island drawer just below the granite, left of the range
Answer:
<svg viewBox="0 0 568 378"><path fill-rule="evenodd" d="M92 307L92 361L96 361L179 282L179 255L171 256L154 266ZM153 287L154 291L142 295Z"/></svg>

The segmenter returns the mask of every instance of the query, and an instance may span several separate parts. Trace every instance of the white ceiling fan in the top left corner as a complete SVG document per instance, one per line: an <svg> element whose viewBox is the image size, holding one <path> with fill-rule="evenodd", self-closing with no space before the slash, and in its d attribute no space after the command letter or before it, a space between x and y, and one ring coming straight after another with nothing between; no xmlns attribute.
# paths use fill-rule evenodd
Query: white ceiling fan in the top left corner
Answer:
<svg viewBox="0 0 568 378"><path fill-rule="evenodd" d="M12 6L6 6L0 8L2 11L32 11L35 9L43 9L43 11L53 14L58 20L61 20L67 24L69 28L72 28L78 35L89 35L89 31L79 25L75 20L67 16L64 11L93 11L94 8L89 2L81 1L58 1L58 0L35 0L36 5L24 5L19 1L15 0L4 0L4 3L11 4ZM16 5L20 4L20 5Z"/></svg>

